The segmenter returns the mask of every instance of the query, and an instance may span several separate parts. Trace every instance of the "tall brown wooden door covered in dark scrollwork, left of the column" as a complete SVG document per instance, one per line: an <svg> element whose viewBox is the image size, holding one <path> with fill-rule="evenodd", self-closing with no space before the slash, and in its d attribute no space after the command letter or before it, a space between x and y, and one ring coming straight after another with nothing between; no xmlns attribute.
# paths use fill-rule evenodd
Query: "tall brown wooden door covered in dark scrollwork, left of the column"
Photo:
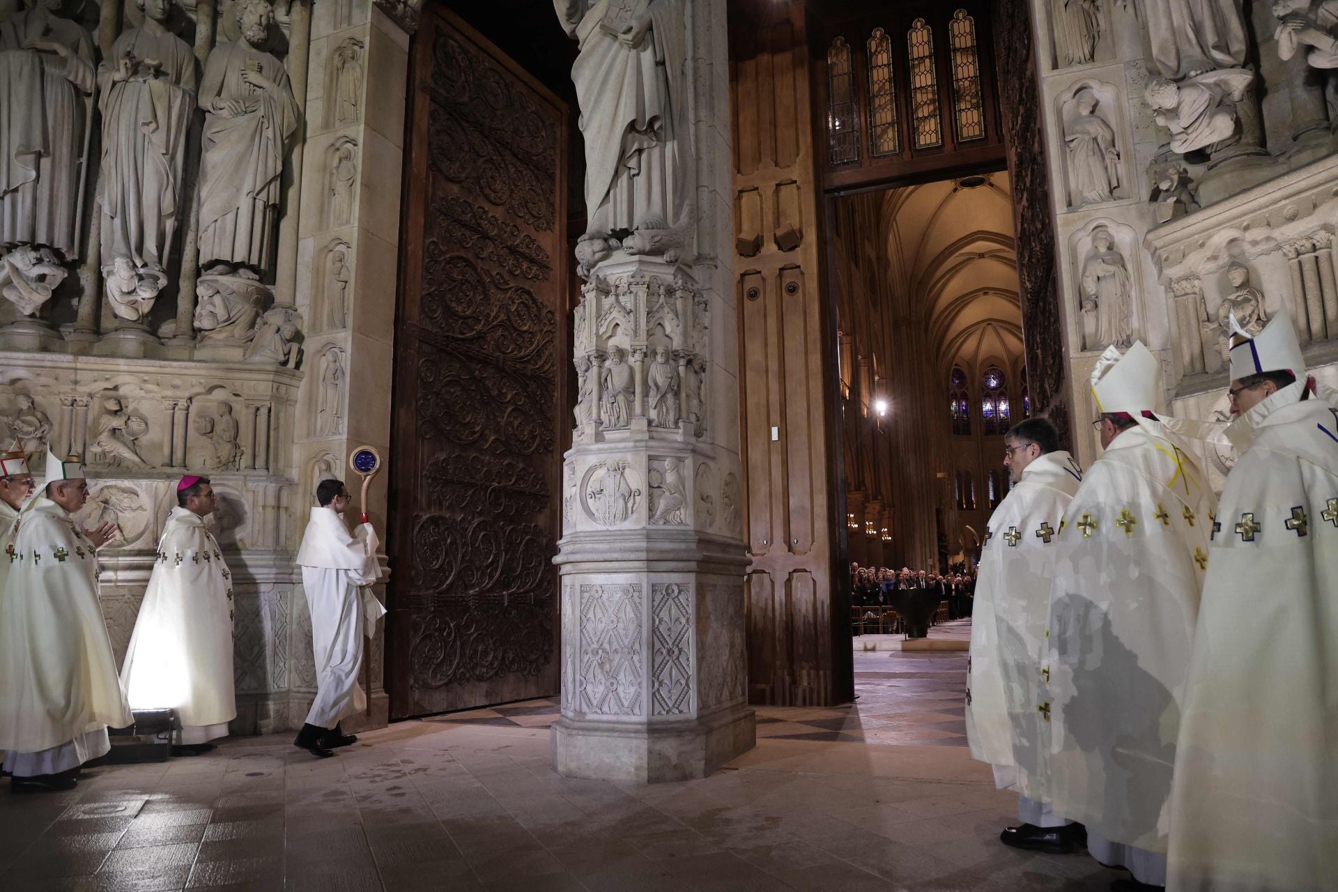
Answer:
<svg viewBox="0 0 1338 892"><path fill-rule="evenodd" d="M415 37L395 340L391 715L558 691L566 107L451 13Z"/></svg>

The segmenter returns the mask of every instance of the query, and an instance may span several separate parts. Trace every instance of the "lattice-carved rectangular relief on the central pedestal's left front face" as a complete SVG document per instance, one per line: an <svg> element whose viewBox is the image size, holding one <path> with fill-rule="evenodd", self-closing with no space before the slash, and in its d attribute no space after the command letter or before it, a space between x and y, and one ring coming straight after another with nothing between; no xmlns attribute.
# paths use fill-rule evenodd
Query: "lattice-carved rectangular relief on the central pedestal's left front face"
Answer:
<svg viewBox="0 0 1338 892"><path fill-rule="evenodd" d="M581 654L574 695L597 715L645 714L640 584L581 584Z"/></svg>

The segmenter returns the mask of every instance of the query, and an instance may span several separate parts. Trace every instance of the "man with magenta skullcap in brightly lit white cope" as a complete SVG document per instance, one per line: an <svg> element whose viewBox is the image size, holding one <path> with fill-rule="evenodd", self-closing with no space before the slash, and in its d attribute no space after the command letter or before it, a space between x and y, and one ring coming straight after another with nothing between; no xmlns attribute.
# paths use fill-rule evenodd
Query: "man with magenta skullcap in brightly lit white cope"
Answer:
<svg viewBox="0 0 1338 892"><path fill-rule="evenodd" d="M139 606L120 679L131 709L173 709L178 756L213 749L237 717L233 691L233 579L218 540L205 527L218 496L209 477L177 484L158 562Z"/></svg>

